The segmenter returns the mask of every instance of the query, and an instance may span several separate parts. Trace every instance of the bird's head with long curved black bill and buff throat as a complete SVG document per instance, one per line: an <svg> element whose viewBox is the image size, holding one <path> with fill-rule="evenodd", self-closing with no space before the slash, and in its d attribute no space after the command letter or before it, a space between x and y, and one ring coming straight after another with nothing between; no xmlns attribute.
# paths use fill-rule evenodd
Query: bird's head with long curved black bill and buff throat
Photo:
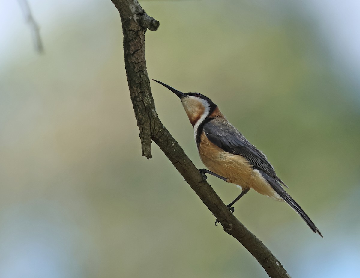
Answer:
<svg viewBox="0 0 360 278"><path fill-rule="evenodd" d="M154 79L153 79L154 80ZM168 88L175 95L179 97L181 103L184 106L185 112L189 117L189 120L193 126L200 120L204 120L208 115L210 115L216 108L217 105L211 101L208 97L199 94L199 93L183 93L177 91L173 87L166 85L160 81L154 80L161 85ZM201 120L201 121L202 121Z"/></svg>

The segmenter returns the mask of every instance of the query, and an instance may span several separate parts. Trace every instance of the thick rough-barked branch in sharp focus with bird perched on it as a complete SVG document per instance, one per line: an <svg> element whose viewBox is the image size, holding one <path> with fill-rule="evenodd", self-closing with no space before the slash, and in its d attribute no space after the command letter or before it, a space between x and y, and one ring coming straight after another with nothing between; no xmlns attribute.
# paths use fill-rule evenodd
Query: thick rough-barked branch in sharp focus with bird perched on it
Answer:
<svg viewBox="0 0 360 278"><path fill-rule="evenodd" d="M176 167L186 182L219 219L224 231L236 238L262 265L269 277L289 278L281 263L269 249L239 222L212 187L203 178L168 130L155 110L145 61L145 32L157 30L159 22L149 17L137 0L112 0L122 21L127 82L135 117L140 130L142 155L151 158L154 141Z"/></svg>

